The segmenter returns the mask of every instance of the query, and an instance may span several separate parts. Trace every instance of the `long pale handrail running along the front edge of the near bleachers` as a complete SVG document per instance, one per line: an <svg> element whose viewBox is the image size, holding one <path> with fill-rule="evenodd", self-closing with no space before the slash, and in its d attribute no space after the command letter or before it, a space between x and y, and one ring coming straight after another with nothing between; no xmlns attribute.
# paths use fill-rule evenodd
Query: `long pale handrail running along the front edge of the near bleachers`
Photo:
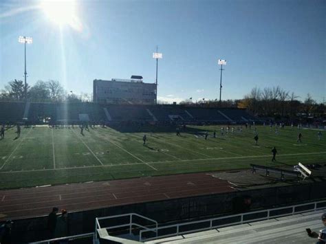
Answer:
<svg viewBox="0 0 326 244"><path fill-rule="evenodd" d="M217 217L217 218L213 218L213 219L205 219L202 221L192 221L192 222L188 222L188 223L179 223L179 224L174 224L174 225L166 225L166 226L162 226L156 229L156 236L155 237L150 237L150 238L146 238L146 239L142 239L143 233L145 232L149 232L150 230L140 230L140 241L151 241L153 239L157 239L158 236L158 230L164 230L164 229L171 229L171 228L176 228L175 232L173 234L164 234L162 236L160 236L160 238L163 237L169 237L169 236L177 236L179 234L186 234L186 233L191 233L191 232L197 232L197 231L202 231L202 230L211 230L213 228L217 228L217 227L225 227L225 226L229 226L229 225L235 225L235 224L240 224L240 223L248 223L248 222L252 222L252 221L260 221L260 220L265 220L265 219L270 219L270 218L276 218L276 217L282 217L282 216L287 216L287 215L292 215L292 214L299 214L302 212L309 212L309 211L316 211L316 210L320 210L323 208L326 208L325 206L323 207L319 207L317 208L318 203L326 203L326 200L324 201L315 201L315 202L311 202L311 203L301 203L301 204L297 204L294 206L285 206L285 207L280 207L280 208L271 208L268 210L258 210L258 211L253 211L253 212L246 212L243 214L232 214L232 215L228 215L228 216L224 216L224 217ZM296 208L301 207L301 206L309 206L309 205L314 205L314 208L309 208L307 210L301 210L301 211L296 211ZM286 214L276 214L276 215L272 215L270 216L270 212L272 211L276 211L276 210L285 210L285 209L292 209L291 212L286 213ZM248 220L243 220L243 217L246 217L248 215L252 215L252 214L259 214L259 213L266 213L266 217L259 217L259 218L255 218L255 219L248 219ZM227 223L227 224L223 224L223 225L213 225L213 221L217 221L217 220L221 220L221 219L230 219L233 217L239 217L240 221L235 221L232 223ZM200 229L196 229L196 230L187 230L187 231L183 231L180 232L180 227L181 226L185 226L185 225L193 225L195 223L208 223L209 222L209 227L208 228L200 228ZM153 229L151 230L153 231Z"/></svg>

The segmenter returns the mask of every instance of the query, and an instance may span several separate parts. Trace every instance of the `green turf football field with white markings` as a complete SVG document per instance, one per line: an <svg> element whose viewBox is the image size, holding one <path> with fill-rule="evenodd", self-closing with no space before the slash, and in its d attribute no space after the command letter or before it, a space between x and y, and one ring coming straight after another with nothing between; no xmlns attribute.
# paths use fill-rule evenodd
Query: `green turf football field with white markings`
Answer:
<svg viewBox="0 0 326 244"><path fill-rule="evenodd" d="M302 129L303 142L296 143L297 129L257 126L258 146L253 129L221 136L221 126L192 126L181 137L173 133L120 133L96 127L80 134L80 129L36 127L6 131L0 140L0 188L21 188L49 184L123 179L151 175L195 173L249 168L250 164L287 166L302 162L326 162L326 135ZM213 130L217 129L217 138ZM205 140L202 135L208 131ZM197 133L196 133L197 131ZM277 162L271 149L276 146Z"/></svg>

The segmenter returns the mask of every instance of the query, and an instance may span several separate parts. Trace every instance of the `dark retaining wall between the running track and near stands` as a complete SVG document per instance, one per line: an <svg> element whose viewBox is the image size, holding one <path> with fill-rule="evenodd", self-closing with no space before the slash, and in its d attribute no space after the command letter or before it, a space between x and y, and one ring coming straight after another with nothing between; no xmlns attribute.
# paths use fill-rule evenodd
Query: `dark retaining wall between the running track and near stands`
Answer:
<svg viewBox="0 0 326 244"><path fill-rule="evenodd" d="M69 235L94 232L96 217L135 212L155 219L158 223L181 222L217 214L232 214L323 199L326 197L325 189L326 181L323 181L70 212ZM251 204L244 204L243 199L250 199ZM13 243L47 239L46 223L47 217L15 220L12 228Z"/></svg>

